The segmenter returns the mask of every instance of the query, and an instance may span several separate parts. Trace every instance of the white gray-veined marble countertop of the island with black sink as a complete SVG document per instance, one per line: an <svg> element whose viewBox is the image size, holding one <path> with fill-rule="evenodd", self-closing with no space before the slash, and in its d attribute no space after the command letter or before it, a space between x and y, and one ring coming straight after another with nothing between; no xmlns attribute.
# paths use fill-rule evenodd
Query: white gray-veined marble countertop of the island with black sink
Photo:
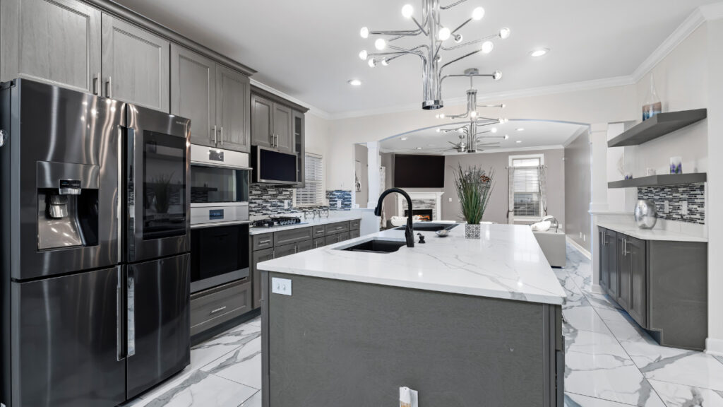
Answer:
<svg viewBox="0 0 723 407"><path fill-rule="evenodd" d="M482 238L474 240L464 238L464 225L450 230L446 238L434 232L422 234L427 243L416 243L414 248L402 246L394 253L337 248L354 246L374 236L403 241L403 230L385 230L265 261L258 268L445 293L565 303L565 291L529 226L482 225Z"/></svg>

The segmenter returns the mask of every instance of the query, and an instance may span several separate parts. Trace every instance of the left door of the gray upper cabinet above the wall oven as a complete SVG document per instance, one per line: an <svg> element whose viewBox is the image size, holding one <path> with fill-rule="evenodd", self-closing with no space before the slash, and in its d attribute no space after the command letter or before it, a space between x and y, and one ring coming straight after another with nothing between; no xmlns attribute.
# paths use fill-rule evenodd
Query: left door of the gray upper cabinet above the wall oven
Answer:
<svg viewBox="0 0 723 407"><path fill-rule="evenodd" d="M215 147L216 63L171 44L171 114L191 119L191 142Z"/></svg>

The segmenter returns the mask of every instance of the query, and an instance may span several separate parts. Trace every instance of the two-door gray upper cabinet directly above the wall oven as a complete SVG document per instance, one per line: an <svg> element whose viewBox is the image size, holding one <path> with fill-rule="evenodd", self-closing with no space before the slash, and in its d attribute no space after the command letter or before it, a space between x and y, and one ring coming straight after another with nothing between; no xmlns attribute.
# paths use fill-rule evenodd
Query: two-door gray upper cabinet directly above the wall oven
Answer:
<svg viewBox="0 0 723 407"><path fill-rule="evenodd" d="M171 45L171 114L191 119L191 142L249 151L249 78Z"/></svg>

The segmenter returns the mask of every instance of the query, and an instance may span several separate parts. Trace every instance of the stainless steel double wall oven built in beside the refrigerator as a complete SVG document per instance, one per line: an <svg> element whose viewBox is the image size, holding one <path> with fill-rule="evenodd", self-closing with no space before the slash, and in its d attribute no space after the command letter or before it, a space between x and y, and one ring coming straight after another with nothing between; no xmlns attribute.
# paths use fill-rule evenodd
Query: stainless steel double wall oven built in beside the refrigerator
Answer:
<svg viewBox="0 0 723 407"><path fill-rule="evenodd" d="M191 146L191 292L249 278L249 154Z"/></svg>

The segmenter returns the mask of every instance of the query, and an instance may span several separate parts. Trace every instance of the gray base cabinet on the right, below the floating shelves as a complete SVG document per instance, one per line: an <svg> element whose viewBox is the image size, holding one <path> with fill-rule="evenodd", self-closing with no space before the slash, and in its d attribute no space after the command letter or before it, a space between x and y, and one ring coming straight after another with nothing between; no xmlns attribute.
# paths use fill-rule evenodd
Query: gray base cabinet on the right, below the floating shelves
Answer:
<svg viewBox="0 0 723 407"><path fill-rule="evenodd" d="M664 346L703 350L708 244L641 240L599 228L599 284Z"/></svg>

